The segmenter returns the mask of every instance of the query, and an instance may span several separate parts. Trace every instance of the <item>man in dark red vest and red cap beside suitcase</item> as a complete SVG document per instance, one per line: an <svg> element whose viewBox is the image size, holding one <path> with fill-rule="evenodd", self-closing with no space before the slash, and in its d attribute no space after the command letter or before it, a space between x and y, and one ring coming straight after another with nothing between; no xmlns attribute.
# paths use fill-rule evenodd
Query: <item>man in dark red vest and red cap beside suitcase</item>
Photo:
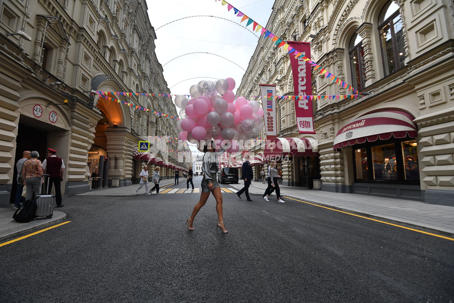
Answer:
<svg viewBox="0 0 454 303"><path fill-rule="evenodd" d="M57 151L55 149L48 149L47 154L49 155L49 158L44 159L42 165L43 165L43 171L44 174L49 175L49 192L47 194L50 194L50 191L52 190L52 184L55 186L55 202L57 203L57 207L62 207L63 204L61 204L61 189L60 189L60 183L63 181L63 170L64 170L64 164L63 164L63 159L57 157L55 155Z"/></svg>

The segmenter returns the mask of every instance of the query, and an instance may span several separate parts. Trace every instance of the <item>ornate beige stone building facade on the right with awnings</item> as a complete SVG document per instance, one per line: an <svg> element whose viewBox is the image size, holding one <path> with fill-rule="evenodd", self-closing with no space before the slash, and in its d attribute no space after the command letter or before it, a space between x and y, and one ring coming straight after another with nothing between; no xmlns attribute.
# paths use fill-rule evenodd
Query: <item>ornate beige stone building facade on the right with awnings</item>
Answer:
<svg viewBox="0 0 454 303"><path fill-rule="evenodd" d="M294 101L277 101L278 136L307 139L313 152L281 163L283 184L311 188L321 179L331 192L454 205L452 10L449 0L275 1L266 28L310 41L312 60L365 93L315 99L316 134L299 134ZM237 94L259 95L265 83L294 95L286 53L259 40ZM313 95L351 94L318 72L311 83ZM363 128L366 120L375 124Z"/></svg>

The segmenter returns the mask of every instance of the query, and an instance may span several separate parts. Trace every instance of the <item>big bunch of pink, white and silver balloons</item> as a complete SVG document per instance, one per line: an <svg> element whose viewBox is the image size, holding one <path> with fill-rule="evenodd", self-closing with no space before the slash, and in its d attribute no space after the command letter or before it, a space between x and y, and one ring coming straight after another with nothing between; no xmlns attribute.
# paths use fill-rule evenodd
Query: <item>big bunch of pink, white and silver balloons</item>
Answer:
<svg viewBox="0 0 454 303"><path fill-rule="evenodd" d="M263 129L263 109L254 100L235 100L234 88L232 78L202 80L189 89L192 99L178 95L175 105L182 109L180 117L184 118L177 120L179 138L197 144L201 151L206 141L214 139L216 149L228 144L231 154L257 138Z"/></svg>

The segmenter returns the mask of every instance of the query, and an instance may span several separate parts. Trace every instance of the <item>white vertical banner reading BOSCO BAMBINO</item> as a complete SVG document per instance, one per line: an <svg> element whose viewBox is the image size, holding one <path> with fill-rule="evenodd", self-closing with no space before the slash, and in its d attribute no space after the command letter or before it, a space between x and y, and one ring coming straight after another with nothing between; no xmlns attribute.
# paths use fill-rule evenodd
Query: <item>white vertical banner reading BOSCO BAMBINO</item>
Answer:
<svg viewBox="0 0 454 303"><path fill-rule="evenodd" d="M266 139L277 137L276 85L260 84Z"/></svg>

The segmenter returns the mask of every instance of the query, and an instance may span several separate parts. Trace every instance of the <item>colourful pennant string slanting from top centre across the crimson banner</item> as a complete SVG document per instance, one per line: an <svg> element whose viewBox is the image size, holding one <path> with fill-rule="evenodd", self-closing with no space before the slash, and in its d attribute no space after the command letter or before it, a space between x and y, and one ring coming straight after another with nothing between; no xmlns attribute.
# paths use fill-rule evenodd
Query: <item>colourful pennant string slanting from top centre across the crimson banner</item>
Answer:
<svg viewBox="0 0 454 303"><path fill-rule="evenodd" d="M244 20L247 20L246 27L252 24L252 30L255 30L258 32L261 30L261 35L263 35L263 38L270 38L273 42L276 42L277 47L283 47L284 50L288 51L288 54L292 54L295 56L295 58L298 59L303 59L304 61L307 61L307 63L311 66L314 67L314 70L318 71L320 70L320 74L324 75L325 78L328 78L329 80L332 80L333 83L336 83L343 89L348 89L348 91L352 90L355 94L358 94L358 90L354 89L351 85L346 84L344 81L336 77L335 75L331 74L329 71L321 67L321 65L317 64L316 62L312 61L311 59L307 58L305 55L301 54L300 52L296 51L294 48L292 48L290 45L288 45L284 40L280 39L273 33L271 33L269 30L267 30L265 27L262 25L258 24L256 21L252 20L249 18L247 15L244 15L240 10L235 8L233 5L228 3L226 0L215 0L215 1L221 1L222 5L227 5L227 10L230 11L233 9L234 15L237 15L237 17L242 17L241 22Z"/></svg>

